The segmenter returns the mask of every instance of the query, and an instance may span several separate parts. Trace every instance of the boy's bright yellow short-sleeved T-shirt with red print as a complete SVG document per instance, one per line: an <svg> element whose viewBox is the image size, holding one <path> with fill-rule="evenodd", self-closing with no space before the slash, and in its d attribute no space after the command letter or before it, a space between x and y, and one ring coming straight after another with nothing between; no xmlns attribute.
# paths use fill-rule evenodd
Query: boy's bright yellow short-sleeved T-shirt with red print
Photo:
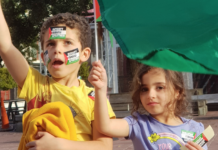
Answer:
<svg viewBox="0 0 218 150"><path fill-rule="evenodd" d="M48 102L63 102L74 112L77 141L90 141L95 101L89 95L94 89L87 87L83 80L79 81L79 87L67 87L30 67L23 88L18 89L18 95L27 101L28 110L40 108ZM113 118L115 114L108 100L107 102L108 114Z"/></svg>

